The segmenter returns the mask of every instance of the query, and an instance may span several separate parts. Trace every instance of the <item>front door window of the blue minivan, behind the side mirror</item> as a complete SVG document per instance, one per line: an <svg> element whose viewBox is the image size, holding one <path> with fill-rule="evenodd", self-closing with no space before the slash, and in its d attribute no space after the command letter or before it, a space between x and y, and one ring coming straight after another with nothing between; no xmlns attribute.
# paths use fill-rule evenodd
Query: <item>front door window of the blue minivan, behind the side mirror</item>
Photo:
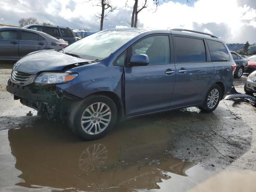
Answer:
<svg viewBox="0 0 256 192"><path fill-rule="evenodd" d="M132 46L132 54L146 54L149 65L170 63L170 43L168 36L151 36Z"/></svg>

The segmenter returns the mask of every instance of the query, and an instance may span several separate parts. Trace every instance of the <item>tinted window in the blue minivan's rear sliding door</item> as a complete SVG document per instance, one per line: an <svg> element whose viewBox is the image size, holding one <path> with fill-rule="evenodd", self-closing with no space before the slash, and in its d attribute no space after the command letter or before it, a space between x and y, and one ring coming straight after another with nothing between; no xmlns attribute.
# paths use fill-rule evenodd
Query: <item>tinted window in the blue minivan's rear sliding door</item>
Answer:
<svg viewBox="0 0 256 192"><path fill-rule="evenodd" d="M201 39L175 36L176 62L206 62L204 41Z"/></svg>

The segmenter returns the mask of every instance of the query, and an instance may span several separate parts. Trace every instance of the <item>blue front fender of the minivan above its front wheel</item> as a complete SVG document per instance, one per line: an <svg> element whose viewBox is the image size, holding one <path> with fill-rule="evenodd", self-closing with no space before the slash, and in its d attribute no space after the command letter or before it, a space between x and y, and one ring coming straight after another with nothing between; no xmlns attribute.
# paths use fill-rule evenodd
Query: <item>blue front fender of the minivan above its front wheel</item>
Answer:
<svg viewBox="0 0 256 192"><path fill-rule="evenodd" d="M86 98L100 91L114 92L122 98L123 67L108 66L100 62L72 68L69 71L77 72L79 75L68 83L56 85L61 90L79 98Z"/></svg>

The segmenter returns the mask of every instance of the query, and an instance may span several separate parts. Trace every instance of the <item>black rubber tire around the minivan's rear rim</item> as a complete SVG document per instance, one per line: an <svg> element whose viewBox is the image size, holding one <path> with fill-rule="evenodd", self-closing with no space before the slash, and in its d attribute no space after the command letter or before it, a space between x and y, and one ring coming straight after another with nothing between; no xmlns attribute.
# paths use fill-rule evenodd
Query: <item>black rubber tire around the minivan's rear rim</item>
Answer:
<svg viewBox="0 0 256 192"><path fill-rule="evenodd" d="M217 92L215 92L216 90L218 90L218 98L213 99L212 103L215 104L215 105L212 106L212 107L209 107L209 105L211 105L211 104L208 105L208 98L210 97L210 94L211 94L211 95L212 95L212 94L213 94L213 95L216 95L216 93L217 93ZM213 112L213 111L217 108L217 106L218 106L218 104L219 104L219 102L220 102L221 96L222 96L222 91L221 91L220 86L218 86L217 84L214 84L214 85L208 90L208 92L207 92L207 94L206 94L206 96L205 96L205 98L204 98L204 103L203 103L203 105L202 105L202 106L199 106L198 108L199 108L202 112L206 112L206 113ZM214 103L214 102L216 102L216 103ZM210 103L211 103L211 102L210 102Z"/></svg>

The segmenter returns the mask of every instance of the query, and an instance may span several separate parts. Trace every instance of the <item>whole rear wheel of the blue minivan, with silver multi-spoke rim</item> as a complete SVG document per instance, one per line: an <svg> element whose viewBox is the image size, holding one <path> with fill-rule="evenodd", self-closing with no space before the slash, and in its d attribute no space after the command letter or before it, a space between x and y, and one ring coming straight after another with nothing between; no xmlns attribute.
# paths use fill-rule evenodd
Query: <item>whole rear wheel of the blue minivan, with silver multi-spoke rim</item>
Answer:
<svg viewBox="0 0 256 192"><path fill-rule="evenodd" d="M222 92L220 89L220 86L218 86L217 84L214 84L214 86L212 86L207 94L206 97L204 99L204 103L202 106L198 107L202 112L212 112L214 111L221 99L222 96Z"/></svg>

